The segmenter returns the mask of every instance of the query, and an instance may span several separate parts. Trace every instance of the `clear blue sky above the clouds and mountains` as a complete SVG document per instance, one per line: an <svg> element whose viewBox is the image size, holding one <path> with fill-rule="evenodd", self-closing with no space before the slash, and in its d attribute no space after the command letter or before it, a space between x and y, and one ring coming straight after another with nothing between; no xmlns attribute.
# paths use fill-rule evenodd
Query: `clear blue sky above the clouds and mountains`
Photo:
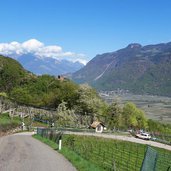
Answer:
<svg viewBox="0 0 171 171"><path fill-rule="evenodd" d="M0 43L36 39L96 54L171 41L170 0L2 0Z"/></svg>

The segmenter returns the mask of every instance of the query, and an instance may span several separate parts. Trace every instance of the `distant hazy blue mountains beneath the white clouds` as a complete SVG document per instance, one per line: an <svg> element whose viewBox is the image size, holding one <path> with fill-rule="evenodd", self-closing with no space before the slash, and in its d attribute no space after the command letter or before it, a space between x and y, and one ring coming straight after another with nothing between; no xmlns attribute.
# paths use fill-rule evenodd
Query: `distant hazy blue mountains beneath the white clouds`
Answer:
<svg viewBox="0 0 171 171"><path fill-rule="evenodd" d="M37 57L33 54L21 55L16 59L22 66L34 74L61 75L73 73L81 69L84 65L78 61L72 62L66 59L55 59L49 57Z"/></svg>

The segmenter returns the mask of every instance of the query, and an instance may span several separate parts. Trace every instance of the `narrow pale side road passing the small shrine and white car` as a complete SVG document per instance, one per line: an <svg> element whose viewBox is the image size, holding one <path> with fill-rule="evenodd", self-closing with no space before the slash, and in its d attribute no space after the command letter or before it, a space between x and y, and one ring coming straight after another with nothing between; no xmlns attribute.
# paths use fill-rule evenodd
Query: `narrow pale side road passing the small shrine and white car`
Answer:
<svg viewBox="0 0 171 171"><path fill-rule="evenodd" d="M154 147L164 148L166 150L171 151L170 145L158 143L155 141L142 140L142 139L138 139L138 138L135 138L132 136L126 136L126 135L123 136L123 135L113 135L113 134L69 132L69 131L64 132L64 134L88 135L88 136L97 136L97 137L103 137L103 138L111 138L111 139L117 139L117 140L123 140L123 141L130 141L130 142L139 143L139 144L148 144L148 145L151 145Z"/></svg>

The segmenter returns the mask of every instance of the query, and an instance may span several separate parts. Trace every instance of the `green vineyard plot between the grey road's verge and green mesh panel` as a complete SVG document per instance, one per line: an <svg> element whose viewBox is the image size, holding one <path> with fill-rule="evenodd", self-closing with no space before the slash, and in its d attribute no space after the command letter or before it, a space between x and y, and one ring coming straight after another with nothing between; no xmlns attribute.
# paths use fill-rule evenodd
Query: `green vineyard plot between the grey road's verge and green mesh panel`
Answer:
<svg viewBox="0 0 171 171"><path fill-rule="evenodd" d="M64 146L104 170L139 171L145 146L98 137L65 135Z"/></svg>

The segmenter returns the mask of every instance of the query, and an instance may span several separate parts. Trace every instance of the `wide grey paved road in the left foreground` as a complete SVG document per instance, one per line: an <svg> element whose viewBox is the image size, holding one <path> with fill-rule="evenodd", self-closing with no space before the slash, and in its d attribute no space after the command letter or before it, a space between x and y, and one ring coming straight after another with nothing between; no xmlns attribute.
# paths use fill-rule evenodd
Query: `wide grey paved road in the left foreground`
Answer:
<svg viewBox="0 0 171 171"><path fill-rule="evenodd" d="M59 153L28 133L0 138L0 171L76 171Z"/></svg>

